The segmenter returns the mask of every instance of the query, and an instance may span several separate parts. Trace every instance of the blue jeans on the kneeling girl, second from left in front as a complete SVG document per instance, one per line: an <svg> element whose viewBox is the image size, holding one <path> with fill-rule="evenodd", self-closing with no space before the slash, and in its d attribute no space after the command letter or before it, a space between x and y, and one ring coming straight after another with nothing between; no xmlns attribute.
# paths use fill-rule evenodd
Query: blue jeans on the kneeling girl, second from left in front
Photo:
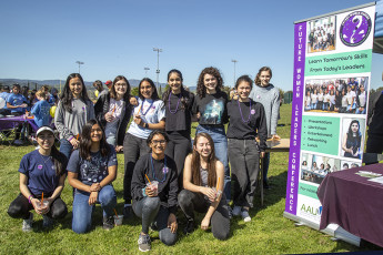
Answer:
<svg viewBox="0 0 383 255"><path fill-rule="evenodd" d="M82 234L88 232L92 226L92 213L94 205L89 205L90 193L83 191L74 192L73 200L73 218L72 231ZM113 216L113 208L117 204L115 191L112 185L107 185L101 188L97 203L101 204L103 216Z"/></svg>

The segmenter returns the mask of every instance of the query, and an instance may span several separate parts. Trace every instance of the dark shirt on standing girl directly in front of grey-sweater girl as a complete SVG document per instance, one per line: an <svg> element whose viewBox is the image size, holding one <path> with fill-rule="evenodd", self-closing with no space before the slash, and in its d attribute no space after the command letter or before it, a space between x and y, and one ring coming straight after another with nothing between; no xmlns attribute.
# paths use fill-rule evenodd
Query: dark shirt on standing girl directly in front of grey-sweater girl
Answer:
<svg viewBox="0 0 383 255"><path fill-rule="evenodd" d="M251 99L250 102L232 100L228 103L228 115L230 118L228 139L248 140L255 139L256 134L259 134L261 149L265 146L263 143L268 139L268 128L264 109L261 103L254 102Z"/></svg>

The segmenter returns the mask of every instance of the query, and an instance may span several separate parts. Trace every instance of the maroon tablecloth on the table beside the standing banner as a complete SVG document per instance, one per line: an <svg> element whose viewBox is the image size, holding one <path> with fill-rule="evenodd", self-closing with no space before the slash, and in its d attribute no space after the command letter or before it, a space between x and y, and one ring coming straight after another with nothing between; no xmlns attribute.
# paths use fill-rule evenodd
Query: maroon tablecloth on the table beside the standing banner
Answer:
<svg viewBox="0 0 383 255"><path fill-rule="evenodd" d="M322 203L320 230L335 223L363 239L383 247L383 184L355 174L383 174L383 164L330 173L318 188Z"/></svg>

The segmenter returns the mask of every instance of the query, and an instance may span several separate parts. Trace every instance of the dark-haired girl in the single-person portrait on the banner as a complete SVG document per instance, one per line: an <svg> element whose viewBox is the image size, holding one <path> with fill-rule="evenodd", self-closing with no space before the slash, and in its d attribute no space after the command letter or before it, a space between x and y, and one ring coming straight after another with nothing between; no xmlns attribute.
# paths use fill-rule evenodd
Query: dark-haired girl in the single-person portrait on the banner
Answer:
<svg viewBox="0 0 383 255"><path fill-rule="evenodd" d="M361 146L363 143L363 137L361 133L361 125L357 120L353 120L350 123L347 133L343 136L342 149L344 151L344 156L361 159Z"/></svg>

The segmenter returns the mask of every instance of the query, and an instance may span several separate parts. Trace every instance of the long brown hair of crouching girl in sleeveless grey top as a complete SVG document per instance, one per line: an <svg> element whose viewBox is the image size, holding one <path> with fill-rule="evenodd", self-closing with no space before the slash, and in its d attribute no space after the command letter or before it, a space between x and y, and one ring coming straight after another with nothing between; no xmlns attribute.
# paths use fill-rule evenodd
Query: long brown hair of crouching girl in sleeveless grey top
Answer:
<svg viewBox="0 0 383 255"><path fill-rule="evenodd" d="M216 185L216 172L215 172L216 157L215 157L214 142L208 133L198 133L195 135L194 143L193 143L192 162L191 162L191 172L192 172L191 182L198 186L201 186L202 184L201 172L200 172L201 157L200 157L200 153L198 153L198 151L195 151L194 149L200 137L208 139L211 146L211 153L208 159L208 185L211 187L214 187Z"/></svg>

